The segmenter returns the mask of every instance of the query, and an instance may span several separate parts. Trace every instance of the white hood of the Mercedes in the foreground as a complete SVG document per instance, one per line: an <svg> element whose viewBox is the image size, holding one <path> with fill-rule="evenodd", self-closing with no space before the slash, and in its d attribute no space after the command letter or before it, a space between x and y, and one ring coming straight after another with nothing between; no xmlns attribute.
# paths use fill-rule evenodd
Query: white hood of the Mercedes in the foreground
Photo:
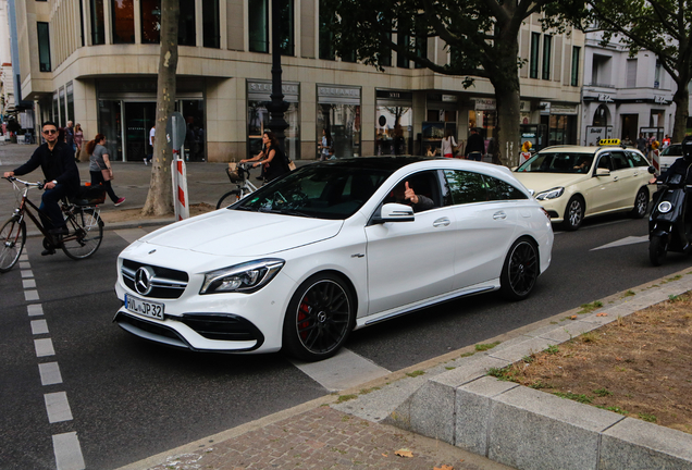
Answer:
<svg viewBox="0 0 692 470"><path fill-rule="evenodd" d="M217 256L264 256L338 234L344 221L221 209L171 224L140 242Z"/></svg>

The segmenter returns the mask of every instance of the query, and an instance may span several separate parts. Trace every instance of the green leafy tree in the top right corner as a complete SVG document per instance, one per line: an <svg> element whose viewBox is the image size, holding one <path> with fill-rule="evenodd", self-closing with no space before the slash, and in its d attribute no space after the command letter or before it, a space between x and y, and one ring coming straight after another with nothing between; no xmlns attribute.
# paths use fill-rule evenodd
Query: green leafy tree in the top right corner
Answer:
<svg viewBox="0 0 692 470"><path fill-rule="evenodd" d="M601 32L602 45L615 39L631 54L642 49L656 54L678 88L672 139L682 140L692 79L692 0L567 0L554 9L557 21L570 21L585 33Z"/></svg>

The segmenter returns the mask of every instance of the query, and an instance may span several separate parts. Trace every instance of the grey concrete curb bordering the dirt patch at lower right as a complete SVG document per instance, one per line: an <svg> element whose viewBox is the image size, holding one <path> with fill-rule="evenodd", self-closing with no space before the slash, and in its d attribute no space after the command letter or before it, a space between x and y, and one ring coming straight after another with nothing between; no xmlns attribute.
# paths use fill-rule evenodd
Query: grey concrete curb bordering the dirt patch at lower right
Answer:
<svg viewBox="0 0 692 470"><path fill-rule="evenodd" d="M534 327L486 352L457 356L424 376L397 381L333 407L518 469L692 469L691 434L486 374L490 368L509 366L692 289L692 275L685 271L677 273L678 280L670 281L674 274L647 283L633 289L635 296L598 309L607 317L594 312L557 326Z"/></svg>

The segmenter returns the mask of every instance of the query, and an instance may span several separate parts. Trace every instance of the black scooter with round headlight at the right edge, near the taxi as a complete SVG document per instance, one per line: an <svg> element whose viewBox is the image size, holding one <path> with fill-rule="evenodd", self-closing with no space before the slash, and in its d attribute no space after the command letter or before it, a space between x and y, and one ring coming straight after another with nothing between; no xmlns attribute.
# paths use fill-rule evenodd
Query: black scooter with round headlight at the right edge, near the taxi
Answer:
<svg viewBox="0 0 692 470"><path fill-rule="evenodd" d="M656 184L658 191L648 217L648 259L657 267L668 251L685 255L692 251L692 214L687 215L687 194L692 191L692 186L685 186L680 174L672 174Z"/></svg>

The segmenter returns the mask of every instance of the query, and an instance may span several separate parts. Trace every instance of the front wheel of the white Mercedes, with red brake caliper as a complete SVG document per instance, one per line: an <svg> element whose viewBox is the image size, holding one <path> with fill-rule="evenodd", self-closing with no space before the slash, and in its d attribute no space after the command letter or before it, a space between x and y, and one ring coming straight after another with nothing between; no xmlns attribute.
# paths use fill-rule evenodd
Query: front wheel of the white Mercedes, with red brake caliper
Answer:
<svg viewBox="0 0 692 470"><path fill-rule="evenodd" d="M335 274L316 274L300 284L288 304L284 348L306 361L326 359L342 347L355 322L350 287Z"/></svg>

